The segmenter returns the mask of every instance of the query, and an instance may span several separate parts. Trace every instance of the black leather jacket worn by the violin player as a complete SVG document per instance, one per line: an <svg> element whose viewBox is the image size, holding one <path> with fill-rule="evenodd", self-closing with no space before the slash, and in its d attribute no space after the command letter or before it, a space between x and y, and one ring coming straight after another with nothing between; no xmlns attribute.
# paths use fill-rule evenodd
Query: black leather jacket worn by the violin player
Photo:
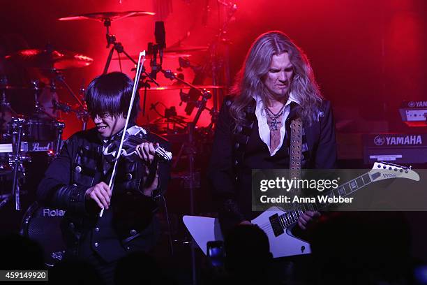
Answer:
<svg viewBox="0 0 427 285"><path fill-rule="evenodd" d="M153 133L147 140L169 143ZM105 261L121 258L128 251L148 250L156 242L158 226L153 219L156 197L163 194L170 178L170 164L159 164L160 187L152 197L142 194L142 161L121 159L117 167L111 206L98 218L99 207L85 200L84 193L103 181L108 184L112 165L103 159L103 142L96 129L71 136L60 155L47 168L37 190L43 205L66 210L61 223L67 254L84 257L96 251Z"/></svg>

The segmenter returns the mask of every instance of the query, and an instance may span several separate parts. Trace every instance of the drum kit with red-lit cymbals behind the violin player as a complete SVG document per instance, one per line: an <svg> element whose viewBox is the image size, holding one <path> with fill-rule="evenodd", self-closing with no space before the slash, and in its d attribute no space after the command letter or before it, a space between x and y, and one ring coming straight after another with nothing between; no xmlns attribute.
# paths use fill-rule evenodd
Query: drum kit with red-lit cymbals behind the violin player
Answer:
<svg viewBox="0 0 427 285"><path fill-rule="evenodd" d="M127 11L127 12L103 12L89 13L82 15L73 15L70 17L62 17L60 21L73 20L95 20L102 22L106 28L107 48L111 47L110 54L103 73L107 73L111 60L129 60L135 63L134 55L129 55L123 45L117 41L115 35L110 34L110 27L113 21L123 19L125 17L142 17L154 15L151 12L145 11ZM208 46L186 46L177 43L170 47L165 45L165 29L163 22L156 22L156 43L149 43L147 49L147 59L150 61L151 71L142 71L142 82L140 83L140 91L144 89L144 97L142 103L142 111L145 112L145 103L147 90L149 92L157 92L161 90L181 90L181 101L192 104L193 108L197 108L197 114L193 122L177 116L174 112L174 107L167 109L169 115L161 115L161 124L167 123L167 131L174 131L175 127L184 130L188 133L188 141L181 147L180 154L185 152L189 159L190 172L194 171L195 159L195 139L193 138L197 120L204 110L208 110L213 120L217 115L216 105L209 109L206 107L207 101L211 98L211 93L208 90L223 89L223 86L218 85L202 85L194 80L192 83L186 82L179 75L170 70L163 69L163 58L179 59L180 68L189 67L188 57L192 52L206 52ZM119 54L119 57L112 58L114 52ZM121 58L120 55L125 57ZM57 50L52 45L47 45L43 49L27 49L19 50L13 54L8 54L5 58L0 59L6 64L17 64L25 68L33 68L43 74L43 80L33 80L26 86L10 85L8 83L8 75L0 77L0 173L11 177L11 189L6 191L0 189L0 208L6 204L15 203L15 210L21 210L20 198L22 196L22 185L26 176L25 163L31 162L31 156L34 152L43 152L50 158L54 158L59 154L62 145L62 133L65 128L63 120L61 120L61 112L73 112L82 122L82 129L86 129L89 119L87 106L84 102L84 89L81 89L77 94L68 86L63 71L71 68L82 68L93 63L93 59L87 55L73 52L70 50ZM185 64L181 64L181 62ZM156 81L157 73L163 74L165 78L174 81L174 84L169 86L160 86ZM208 73L209 71L204 71ZM205 76L203 76L205 77ZM152 87L150 85L155 85ZM73 100L75 105L70 105L63 101L59 101L57 89L65 89ZM188 94L183 93L183 90L189 90ZM17 106L8 101L10 94L16 92L26 92L32 94L31 110L24 114L19 114L15 111ZM189 94L197 94L196 96ZM18 105L20 103L17 103ZM151 105L151 109L155 109L155 105ZM171 112L172 111L172 112ZM160 113L158 113L160 115ZM187 115L190 115L187 112ZM159 119L156 119L154 124L158 124ZM171 124L169 124L171 123ZM212 123L213 124L213 123ZM211 124L211 125L212 125ZM210 128L211 128L210 125ZM170 127L173 126L173 127ZM172 129L171 129L172 128ZM165 129L161 130L165 131ZM188 149L183 151L183 149ZM193 177L193 175L191 175ZM40 179L40 177L39 177ZM193 184L193 183L191 183ZM33 187L33 186L32 186ZM34 188L34 187L33 187ZM191 198L193 199L193 198ZM193 202L192 202L193 203ZM37 203L33 203L24 214L22 222L22 234L35 238L47 249L47 264L53 265L55 261L61 259L63 254L63 242L58 233L45 233L51 231L59 231L59 219L63 216L64 211L59 209L49 209L40 207ZM54 239L46 239L46 237L56 236Z"/></svg>

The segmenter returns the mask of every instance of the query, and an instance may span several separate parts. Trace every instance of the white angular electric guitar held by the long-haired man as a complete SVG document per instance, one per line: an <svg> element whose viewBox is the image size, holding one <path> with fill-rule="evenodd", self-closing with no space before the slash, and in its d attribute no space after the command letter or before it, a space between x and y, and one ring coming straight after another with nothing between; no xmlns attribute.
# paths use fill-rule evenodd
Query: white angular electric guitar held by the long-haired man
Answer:
<svg viewBox="0 0 427 285"><path fill-rule="evenodd" d="M360 175L336 189L326 191L325 196L348 196L366 185L391 178L407 178L419 181L419 175L410 168L392 163L376 162L372 170ZM329 203L300 203L295 210L285 212L279 207L270 207L251 222L260 226L267 234L270 251L274 258L310 254L310 244L292 235L292 227L297 224L299 216L306 211L321 210ZM207 254L207 242L223 240L218 219L211 217L184 216L183 222L193 236L197 245Z"/></svg>

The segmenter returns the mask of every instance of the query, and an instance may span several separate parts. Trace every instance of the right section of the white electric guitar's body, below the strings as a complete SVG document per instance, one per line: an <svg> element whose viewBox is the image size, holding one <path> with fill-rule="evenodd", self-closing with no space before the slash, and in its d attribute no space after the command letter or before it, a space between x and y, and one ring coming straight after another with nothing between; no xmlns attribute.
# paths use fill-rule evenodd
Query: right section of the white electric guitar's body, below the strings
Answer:
<svg viewBox="0 0 427 285"><path fill-rule="evenodd" d="M274 233L270 219L274 219L276 215L280 216L282 214L285 214L285 212L278 207L270 207L267 211L262 212L260 216L251 221L252 224L259 226L264 233L267 234L270 243L270 252L273 254L273 257L278 258L299 254L310 254L310 244L292 235L292 226L284 229L283 232L278 235L277 232L276 234Z"/></svg>

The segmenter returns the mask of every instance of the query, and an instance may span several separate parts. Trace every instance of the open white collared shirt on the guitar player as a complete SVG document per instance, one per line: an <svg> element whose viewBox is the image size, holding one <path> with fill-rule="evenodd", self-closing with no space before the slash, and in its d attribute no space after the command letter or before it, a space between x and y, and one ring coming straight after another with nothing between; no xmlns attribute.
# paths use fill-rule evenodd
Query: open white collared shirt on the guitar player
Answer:
<svg viewBox="0 0 427 285"><path fill-rule="evenodd" d="M276 147L276 149L274 149L273 152L271 152L270 127L267 124L267 114L265 113L265 110L264 110L264 103L262 103L261 96L254 96L254 98L255 98L255 101L257 102L255 107L255 115L257 116L258 132L260 133L260 138L269 148L270 156L274 156L274 154L276 154L276 152L280 149L280 147L282 147L283 140L285 139L285 132L286 132L285 121L287 119L287 116L289 116L290 103L295 102L299 104L299 102L294 98L294 96L292 96L292 93L289 95L289 98L285 103L283 117L281 118L282 126L280 127L280 142Z"/></svg>

